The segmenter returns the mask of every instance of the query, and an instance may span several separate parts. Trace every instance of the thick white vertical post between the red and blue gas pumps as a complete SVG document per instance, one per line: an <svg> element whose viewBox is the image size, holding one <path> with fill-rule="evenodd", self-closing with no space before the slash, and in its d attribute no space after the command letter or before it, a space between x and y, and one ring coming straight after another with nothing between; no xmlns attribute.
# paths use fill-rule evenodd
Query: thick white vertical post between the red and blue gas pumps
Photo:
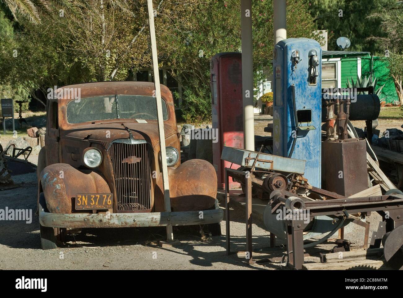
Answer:
<svg viewBox="0 0 403 298"><path fill-rule="evenodd" d="M244 149L255 151L253 118L252 0L241 0L242 92Z"/></svg>

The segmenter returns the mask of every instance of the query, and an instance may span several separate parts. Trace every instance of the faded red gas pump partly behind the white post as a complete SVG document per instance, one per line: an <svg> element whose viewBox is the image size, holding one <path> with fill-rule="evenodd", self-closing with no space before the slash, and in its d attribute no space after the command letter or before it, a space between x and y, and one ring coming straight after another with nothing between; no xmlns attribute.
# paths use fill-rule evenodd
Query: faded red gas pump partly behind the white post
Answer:
<svg viewBox="0 0 403 298"><path fill-rule="evenodd" d="M212 124L218 129L217 142L213 142L213 166L216 169L218 188L224 189L224 168L239 165L221 160L222 147L243 149L242 59L241 53L226 52L214 55L210 60L212 94ZM239 183L229 179L229 188Z"/></svg>

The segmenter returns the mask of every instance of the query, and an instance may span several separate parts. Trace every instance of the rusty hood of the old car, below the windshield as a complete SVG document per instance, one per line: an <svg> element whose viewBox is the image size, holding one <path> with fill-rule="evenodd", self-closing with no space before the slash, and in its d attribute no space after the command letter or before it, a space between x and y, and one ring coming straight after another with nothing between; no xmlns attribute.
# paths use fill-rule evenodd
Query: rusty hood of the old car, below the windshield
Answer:
<svg viewBox="0 0 403 298"><path fill-rule="evenodd" d="M60 137L74 141L89 141L90 143L101 144L106 149L114 140L129 139L129 129L133 139L145 140L154 149L159 145L160 139L156 120L147 120L148 123L137 123L132 120L125 121L125 119L119 120L97 124L75 124L74 128L61 132ZM165 139L177 133L172 126L167 124L164 124L164 132Z"/></svg>

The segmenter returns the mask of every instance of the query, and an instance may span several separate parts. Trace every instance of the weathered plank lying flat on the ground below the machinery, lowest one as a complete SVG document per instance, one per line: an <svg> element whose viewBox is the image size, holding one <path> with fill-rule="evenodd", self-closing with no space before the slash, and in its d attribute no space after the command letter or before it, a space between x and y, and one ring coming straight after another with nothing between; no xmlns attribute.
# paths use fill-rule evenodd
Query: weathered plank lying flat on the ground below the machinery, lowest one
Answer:
<svg viewBox="0 0 403 298"><path fill-rule="evenodd" d="M306 263L306 270L393 270L386 260L356 260L332 263Z"/></svg>

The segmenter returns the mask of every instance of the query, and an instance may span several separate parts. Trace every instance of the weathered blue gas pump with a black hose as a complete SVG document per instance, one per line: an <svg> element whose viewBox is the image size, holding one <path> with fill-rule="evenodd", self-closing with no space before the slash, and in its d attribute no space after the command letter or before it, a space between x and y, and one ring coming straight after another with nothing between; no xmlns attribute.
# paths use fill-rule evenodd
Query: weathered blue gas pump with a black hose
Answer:
<svg viewBox="0 0 403 298"><path fill-rule="evenodd" d="M273 153L306 160L304 177L321 186L322 49L288 38L273 52Z"/></svg>

